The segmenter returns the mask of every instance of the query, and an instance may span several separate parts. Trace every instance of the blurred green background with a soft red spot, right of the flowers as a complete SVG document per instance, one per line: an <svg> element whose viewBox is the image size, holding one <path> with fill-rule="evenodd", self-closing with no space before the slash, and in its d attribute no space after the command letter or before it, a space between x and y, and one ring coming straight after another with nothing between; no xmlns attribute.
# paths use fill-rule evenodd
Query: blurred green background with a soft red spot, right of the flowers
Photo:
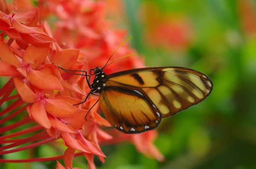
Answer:
<svg viewBox="0 0 256 169"><path fill-rule="evenodd" d="M102 164L96 157L98 169L256 169L256 1L106 2L108 17L116 28L128 29L146 66L201 71L214 89L200 104L163 119L155 145L166 162L148 159L122 143L102 146L107 158ZM59 154L48 145L35 153ZM33 163L32 168L55 164ZM73 166L86 168L85 158L75 158ZM5 165L16 167L26 164Z"/></svg>

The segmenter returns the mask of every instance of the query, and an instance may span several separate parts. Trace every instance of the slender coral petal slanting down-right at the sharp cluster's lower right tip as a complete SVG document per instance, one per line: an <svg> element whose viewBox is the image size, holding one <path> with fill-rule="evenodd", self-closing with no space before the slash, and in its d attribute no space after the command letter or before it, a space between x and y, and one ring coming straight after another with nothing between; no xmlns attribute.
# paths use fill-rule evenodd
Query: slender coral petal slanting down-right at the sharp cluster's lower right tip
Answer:
<svg viewBox="0 0 256 169"><path fill-rule="evenodd" d="M82 135L81 133L79 133L76 137L79 141L81 141L81 143L87 147L87 149L92 152L93 154L95 155L99 155L99 156L102 156L102 157L106 157L104 155L104 153L101 151L101 149L96 145L94 144L93 142L90 142L88 140L86 140Z"/></svg>

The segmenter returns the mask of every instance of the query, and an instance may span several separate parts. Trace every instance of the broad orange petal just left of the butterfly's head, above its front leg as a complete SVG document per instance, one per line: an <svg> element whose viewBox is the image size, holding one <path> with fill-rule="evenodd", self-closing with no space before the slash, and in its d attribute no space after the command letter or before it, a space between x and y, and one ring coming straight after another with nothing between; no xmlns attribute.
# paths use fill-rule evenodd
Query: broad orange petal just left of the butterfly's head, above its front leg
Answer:
<svg viewBox="0 0 256 169"><path fill-rule="evenodd" d="M55 65L68 69L76 63L78 55L79 50L77 49L64 49L57 52L54 56L52 56L52 58L50 58L50 60Z"/></svg>

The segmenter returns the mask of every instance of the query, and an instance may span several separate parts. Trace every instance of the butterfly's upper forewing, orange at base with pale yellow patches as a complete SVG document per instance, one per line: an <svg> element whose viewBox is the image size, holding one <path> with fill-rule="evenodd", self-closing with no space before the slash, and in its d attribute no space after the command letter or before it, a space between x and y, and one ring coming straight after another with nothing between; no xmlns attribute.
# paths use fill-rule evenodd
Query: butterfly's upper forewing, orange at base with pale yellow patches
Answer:
<svg viewBox="0 0 256 169"><path fill-rule="evenodd" d="M162 117L175 115L198 104L211 93L213 87L212 81L203 73L180 67L126 70L108 75L107 79L107 86L137 87L137 91L153 103ZM149 104L149 107L152 105Z"/></svg>

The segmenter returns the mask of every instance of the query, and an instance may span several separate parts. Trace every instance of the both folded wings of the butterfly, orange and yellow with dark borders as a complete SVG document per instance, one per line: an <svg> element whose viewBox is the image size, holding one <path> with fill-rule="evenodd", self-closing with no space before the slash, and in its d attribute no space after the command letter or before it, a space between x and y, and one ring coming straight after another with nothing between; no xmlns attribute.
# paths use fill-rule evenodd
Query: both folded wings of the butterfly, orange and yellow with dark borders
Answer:
<svg viewBox="0 0 256 169"><path fill-rule="evenodd" d="M198 104L209 96L213 87L212 81L203 73L180 67L125 70L108 75L107 79L105 89L100 96L102 110L116 128L122 126L121 128L124 129L126 125L128 125L126 129L137 127L136 132L127 133L146 131L141 130L143 125L149 126L148 130L154 129L159 125L155 121L160 122L162 117L175 115ZM130 100L132 98L143 104L128 106L126 103L132 102ZM119 100L122 100L122 104L119 104ZM140 109L143 111L139 111ZM148 121L144 121L144 118L140 122L133 121L132 117L143 117L141 112L147 116L145 118L150 115L154 118L148 118ZM158 116L157 113L160 115ZM133 121L133 123L128 124L125 121Z"/></svg>

